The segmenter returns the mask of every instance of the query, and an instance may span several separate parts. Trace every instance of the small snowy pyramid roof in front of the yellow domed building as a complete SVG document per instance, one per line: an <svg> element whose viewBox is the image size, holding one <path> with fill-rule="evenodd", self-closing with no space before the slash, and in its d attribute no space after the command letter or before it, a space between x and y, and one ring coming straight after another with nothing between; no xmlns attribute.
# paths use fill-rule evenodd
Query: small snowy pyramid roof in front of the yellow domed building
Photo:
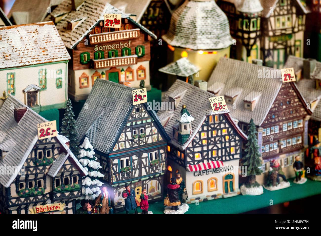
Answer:
<svg viewBox="0 0 321 236"><path fill-rule="evenodd" d="M174 74L182 77L188 77L195 74L200 69L192 64L186 57L180 58L175 62L168 64L159 69L160 72L166 74Z"/></svg>

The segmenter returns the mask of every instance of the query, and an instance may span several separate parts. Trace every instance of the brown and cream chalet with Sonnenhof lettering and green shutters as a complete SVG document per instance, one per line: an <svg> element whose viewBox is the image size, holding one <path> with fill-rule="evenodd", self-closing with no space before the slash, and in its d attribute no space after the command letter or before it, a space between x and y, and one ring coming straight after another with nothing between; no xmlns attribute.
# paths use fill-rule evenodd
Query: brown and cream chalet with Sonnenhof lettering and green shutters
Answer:
<svg viewBox="0 0 321 236"><path fill-rule="evenodd" d="M121 28L104 27L104 15L121 14ZM68 93L86 99L96 79L150 86L150 40L156 36L103 0L66 0L48 16L72 57Z"/></svg>

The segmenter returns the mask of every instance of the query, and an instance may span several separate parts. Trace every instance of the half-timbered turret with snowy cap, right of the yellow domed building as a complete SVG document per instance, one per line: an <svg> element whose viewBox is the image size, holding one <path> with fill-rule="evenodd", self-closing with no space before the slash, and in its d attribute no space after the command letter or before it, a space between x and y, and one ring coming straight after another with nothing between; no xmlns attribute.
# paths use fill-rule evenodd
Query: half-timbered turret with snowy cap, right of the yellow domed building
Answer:
<svg viewBox="0 0 321 236"><path fill-rule="evenodd" d="M230 22L230 33L237 40L231 46L230 58L252 63L260 59L260 0L219 0L217 3Z"/></svg>

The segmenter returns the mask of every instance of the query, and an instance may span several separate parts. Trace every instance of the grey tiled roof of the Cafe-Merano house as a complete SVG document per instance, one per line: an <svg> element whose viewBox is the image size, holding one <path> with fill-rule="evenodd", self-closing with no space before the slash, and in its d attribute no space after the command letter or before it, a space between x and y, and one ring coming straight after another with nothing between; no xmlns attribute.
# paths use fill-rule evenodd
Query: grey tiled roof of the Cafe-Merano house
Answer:
<svg viewBox="0 0 321 236"><path fill-rule="evenodd" d="M167 134L171 138L169 143L175 145L181 150L184 150L190 143L190 141L193 140L197 131L202 126L206 116L218 113L225 113L227 116L230 115L228 109L217 113L213 112L209 98L215 97L214 94L201 90L200 88L181 80L175 81L175 83L169 88L168 92L165 93L165 99L163 99L163 101L169 101L169 97L175 98L179 94L181 94L183 97L179 104L176 106L174 113L171 113L171 111L168 110L160 110L158 111L157 115L159 115L159 118L162 122L167 118L171 117L166 126L164 127ZM178 122L176 120L180 117L182 105L186 105L186 109L194 118L194 121L192 122L192 133L189 136L187 142L183 145L179 144L177 140L173 137L173 127L178 125ZM235 126L237 127L237 125ZM239 127L237 127L237 129L239 130ZM239 131L242 133L241 130ZM245 134L243 135L246 136Z"/></svg>

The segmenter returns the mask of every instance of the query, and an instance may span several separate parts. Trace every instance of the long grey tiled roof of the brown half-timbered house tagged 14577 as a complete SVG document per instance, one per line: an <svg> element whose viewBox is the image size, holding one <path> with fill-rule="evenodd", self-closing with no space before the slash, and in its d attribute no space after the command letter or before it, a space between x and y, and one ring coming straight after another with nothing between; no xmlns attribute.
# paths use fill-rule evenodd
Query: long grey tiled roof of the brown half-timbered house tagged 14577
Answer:
<svg viewBox="0 0 321 236"><path fill-rule="evenodd" d="M246 123L253 118L254 123L260 126L282 86L282 81L278 78L258 79L258 70L263 70L263 67L239 60L221 58L211 74L207 90L213 92L213 85L216 87L217 82L224 84L218 96L225 95L235 87L242 88L241 94L234 101L236 109L230 109L230 114L233 118ZM271 68L266 67L266 69ZM247 110L243 102L252 92L262 94L254 111Z"/></svg>

